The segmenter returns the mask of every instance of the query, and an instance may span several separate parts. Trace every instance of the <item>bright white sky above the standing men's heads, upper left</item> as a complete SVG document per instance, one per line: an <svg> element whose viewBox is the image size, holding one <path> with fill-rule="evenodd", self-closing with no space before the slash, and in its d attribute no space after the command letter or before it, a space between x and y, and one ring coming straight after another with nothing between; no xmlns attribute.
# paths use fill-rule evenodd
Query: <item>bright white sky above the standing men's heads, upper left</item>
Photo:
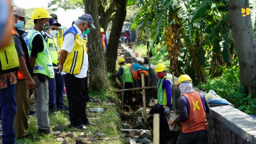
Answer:
<svg viewBox="0 0 256 144"><path fill-rule="evenodd" d="M15 4L24 9L38 8L44 7L47 9L49 0L14 0ZM68 28L71 26L72 22L76 20L79 16L84 13L82 9L76 10L67 10L58 9L54 14L58 16L58 23L61 26L67 26Z"/></svg>

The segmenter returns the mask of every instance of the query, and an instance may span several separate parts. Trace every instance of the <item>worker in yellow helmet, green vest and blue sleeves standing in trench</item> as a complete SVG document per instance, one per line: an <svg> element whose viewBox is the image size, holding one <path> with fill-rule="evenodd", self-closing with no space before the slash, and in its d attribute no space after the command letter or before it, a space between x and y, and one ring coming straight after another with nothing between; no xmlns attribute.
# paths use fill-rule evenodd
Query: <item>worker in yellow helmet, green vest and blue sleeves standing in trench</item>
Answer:
<svg viewBox="0 0 256 144"><path fill-rule="evenodd" d="M165 115L170 112L172 107L172 85L170 78L166 75L166 66L158 63L155 69L157 77L160 78L157 84L158 113L160 114L160 144L169 141L170 132Z"/></svg>

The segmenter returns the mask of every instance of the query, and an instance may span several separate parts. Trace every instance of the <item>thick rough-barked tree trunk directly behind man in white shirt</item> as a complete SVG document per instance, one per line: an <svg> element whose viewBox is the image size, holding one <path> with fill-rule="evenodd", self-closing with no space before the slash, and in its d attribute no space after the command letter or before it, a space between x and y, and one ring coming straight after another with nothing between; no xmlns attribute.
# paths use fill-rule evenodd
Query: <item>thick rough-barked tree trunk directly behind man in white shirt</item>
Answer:
<svg viewBox="0 0 256 144"><path fill-rule="evenodd" d="M98 0L84 0L85 12L93 17L93 24L96 29L91 29L88 36L89 52L89 87L93 91L109 89L108 73L105 62L105 55L99 30Z"/></svg>

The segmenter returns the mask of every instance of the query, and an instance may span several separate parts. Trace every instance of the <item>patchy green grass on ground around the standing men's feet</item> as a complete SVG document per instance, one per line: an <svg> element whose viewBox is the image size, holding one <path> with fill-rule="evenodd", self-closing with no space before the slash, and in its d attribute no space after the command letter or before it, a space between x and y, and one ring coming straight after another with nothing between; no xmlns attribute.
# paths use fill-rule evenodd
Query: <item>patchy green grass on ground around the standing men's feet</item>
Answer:
<svg viewBox="0 0 256 144"><path fill-rule="evenodd" d="M93 141L93 144L122 144L125 142L125 139L122 138L122 134L119 131L121 128L121 119L118 114L116 104L118 104L119 99L117 95L110 92L90 92L90 95L97 99L101 99L102 103L87 103L87 115L89 121L95 123L96 126L88 126L89 129L86 131L75 130L73 128L61 131L61 132L76 132L77 135L80 135L81 132L87 134L88 137L94 137L95 132L100 132L106 134L105 138L117 138L108 141ZM110 99L112 102L110 102ZM67 98L64 98L64 103L67 104ZM99 107L104 108L104 112L89 112L90 108ZM56 112L55 115L49 115L50 129L52 127L60 125L67 126L70 124L69 116L64 112ZM23 139L17 140L20 144L61 144L62 141L57 141L56 136L52 135L38 135L37 134L38 126L36 117L32 116L29 118L29 133L34 135L34 139ZM76 138L65 138L69 144L76 143Z"/></svg>

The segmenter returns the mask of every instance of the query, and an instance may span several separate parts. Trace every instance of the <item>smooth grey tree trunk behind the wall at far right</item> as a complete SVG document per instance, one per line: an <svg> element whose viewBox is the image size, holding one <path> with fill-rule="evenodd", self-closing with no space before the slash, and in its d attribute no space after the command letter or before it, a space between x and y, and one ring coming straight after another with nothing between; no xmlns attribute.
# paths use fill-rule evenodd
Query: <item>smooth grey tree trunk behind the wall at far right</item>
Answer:
<svg viewBox="0 0 256 144"><path fill-rule="evenodd" d="M246 0L230 0L230 27L236 44L240 66L240 82L247 94L256 95L256 52L250 15L242 17L241 8L249 8Z"/></svg>

